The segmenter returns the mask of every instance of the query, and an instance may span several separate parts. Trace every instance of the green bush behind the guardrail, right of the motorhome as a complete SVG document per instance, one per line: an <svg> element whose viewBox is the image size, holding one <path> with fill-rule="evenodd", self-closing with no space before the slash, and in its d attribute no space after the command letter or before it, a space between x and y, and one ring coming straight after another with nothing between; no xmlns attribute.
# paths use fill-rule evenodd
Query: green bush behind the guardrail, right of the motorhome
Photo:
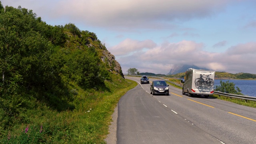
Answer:
<svg viewBox="0 0 256 144"><path fill-rule="evenodd" d="M243 95L238 86L235 88L235 84L229 81L222 82L222 80L220 80L220 86L216 86L215 91Z"/></svg>

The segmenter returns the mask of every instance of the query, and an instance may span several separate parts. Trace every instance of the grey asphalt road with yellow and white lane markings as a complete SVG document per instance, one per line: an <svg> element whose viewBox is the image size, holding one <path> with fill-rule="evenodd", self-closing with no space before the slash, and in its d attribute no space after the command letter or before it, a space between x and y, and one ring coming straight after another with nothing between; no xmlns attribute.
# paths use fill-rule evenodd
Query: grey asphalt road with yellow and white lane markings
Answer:
<svg viewBox="0 0 256 144"><path fill-rule="evenodd" d="M140 78L118 103L117 144L256 144L256 108L216 98L150 94ZM152 82L152 79L150 79Z"/></svg>

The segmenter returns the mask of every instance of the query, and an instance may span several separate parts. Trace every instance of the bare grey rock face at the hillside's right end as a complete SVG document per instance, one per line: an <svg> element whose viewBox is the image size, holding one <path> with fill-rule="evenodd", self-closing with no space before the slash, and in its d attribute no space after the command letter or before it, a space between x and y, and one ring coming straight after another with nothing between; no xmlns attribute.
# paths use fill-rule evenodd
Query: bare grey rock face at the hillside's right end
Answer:
<svg viewBox="0 0 256 144"><path fill-rule="evenodd" d="M124 77L120 64L115 60L115 56L111 54L108 50L102 51L101 60L107 63L110 67L108 71L116 72L116 74L120 74L122 77Z"/></svg>

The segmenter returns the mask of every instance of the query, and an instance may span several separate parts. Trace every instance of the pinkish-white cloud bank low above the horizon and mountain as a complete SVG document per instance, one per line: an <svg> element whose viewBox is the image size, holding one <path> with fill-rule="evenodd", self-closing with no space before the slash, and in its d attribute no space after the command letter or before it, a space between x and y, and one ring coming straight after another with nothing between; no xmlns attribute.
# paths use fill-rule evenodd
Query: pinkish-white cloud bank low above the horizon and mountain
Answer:
<svg viewBox="0 0 256 144"><path fill-rule="evenodd" d="M256 74L256 57L253 54L256 52L256 43L239 44L230 47L224 53L206 52L203 47L202 43L186 40L177 43L165 42L146 52L120 56L117 60L121 64L123 72L126 72L128 68L137 68L140 72L167 74L174 64L194 64L217 71ZM116 50L119 50L118 47ZM245 53L241 50L248 52Z"/></svg>

